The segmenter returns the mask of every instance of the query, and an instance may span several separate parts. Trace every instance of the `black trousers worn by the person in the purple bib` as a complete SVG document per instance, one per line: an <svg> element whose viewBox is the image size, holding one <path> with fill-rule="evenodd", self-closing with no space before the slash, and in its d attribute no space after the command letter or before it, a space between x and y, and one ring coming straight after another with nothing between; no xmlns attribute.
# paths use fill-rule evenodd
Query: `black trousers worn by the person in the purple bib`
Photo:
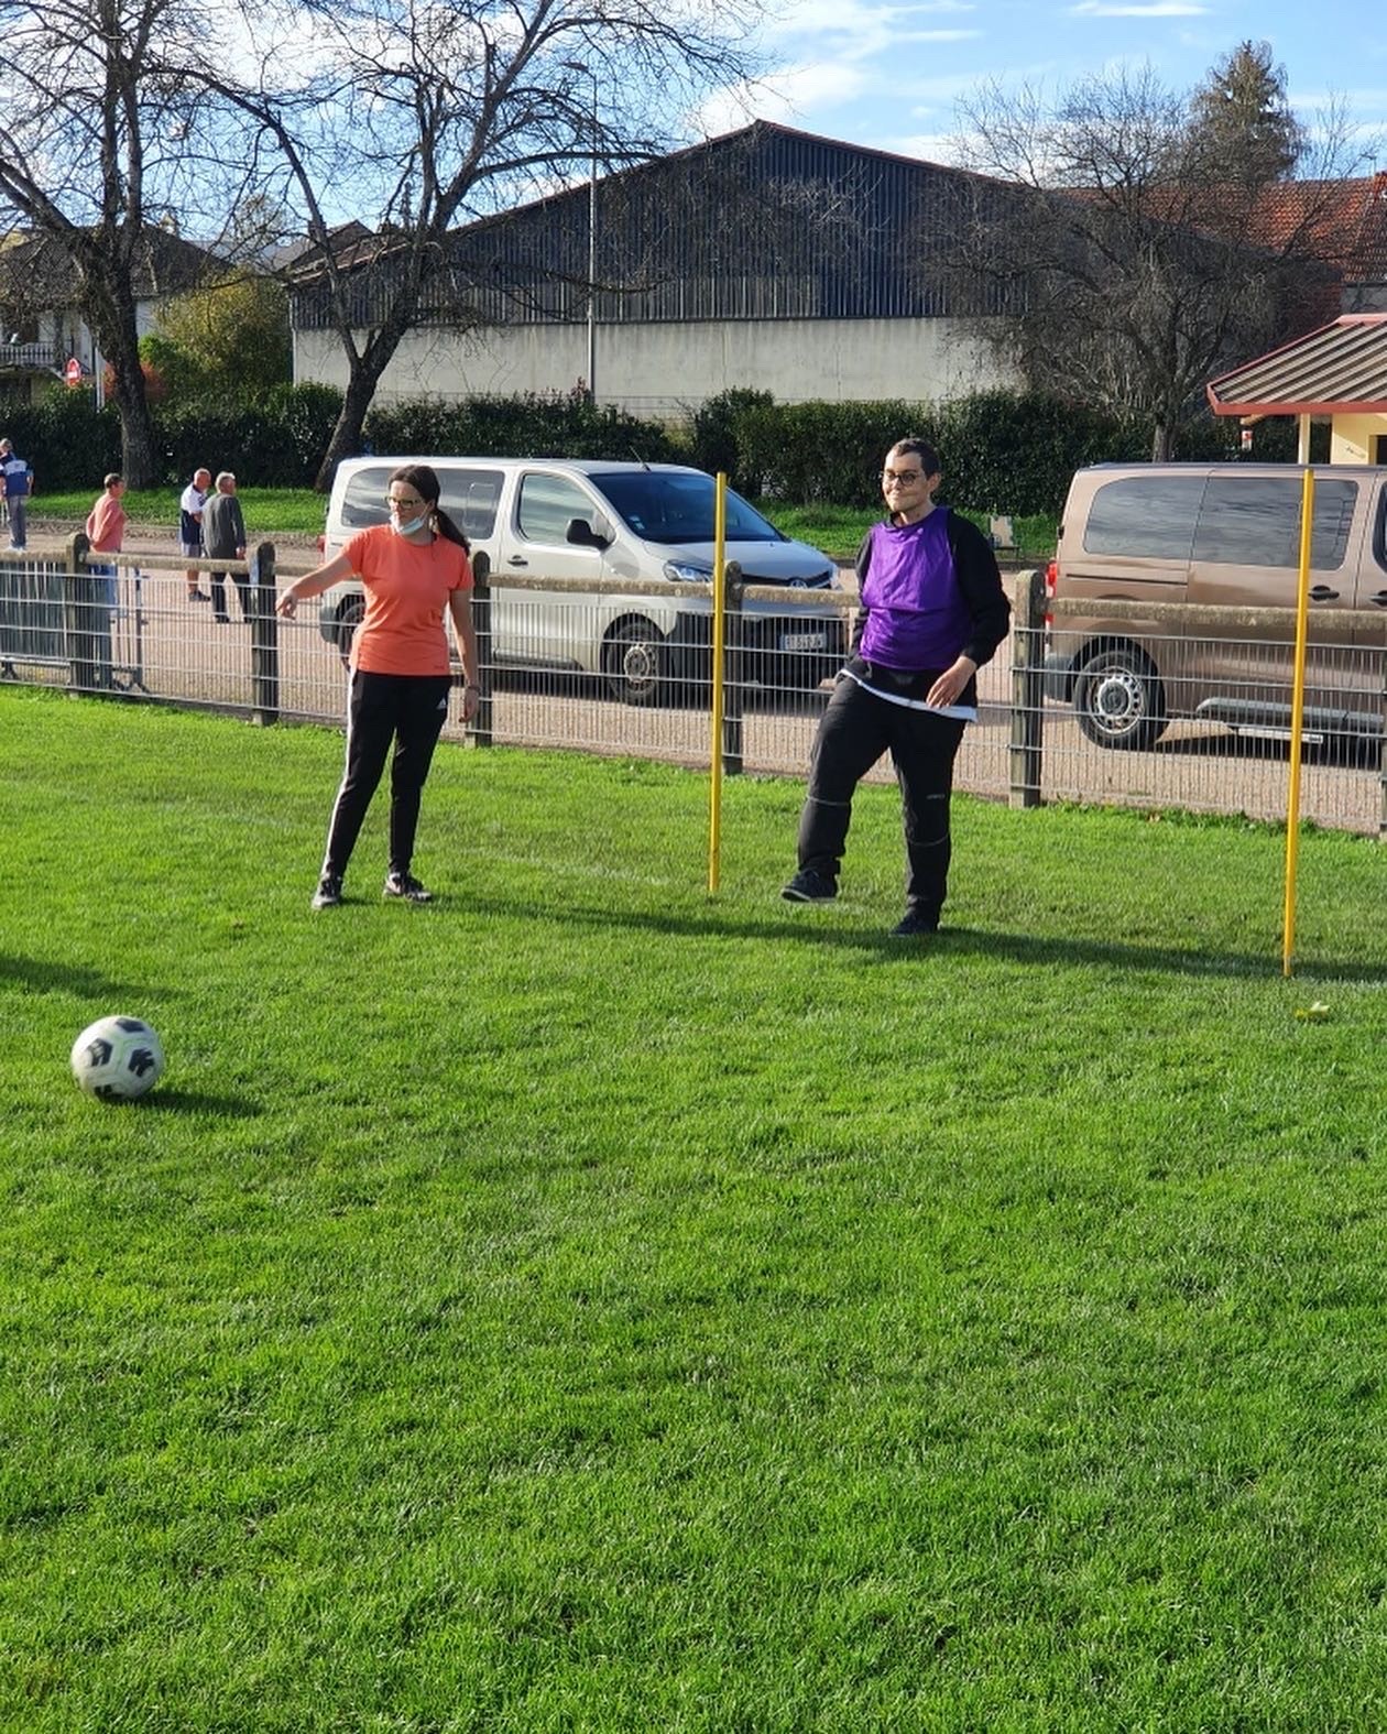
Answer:
<svg viewBox="0 0 1387 1734"><path fill-rule="evenodd" d="M810 754L799 815L799 865L837 879L858 782L891 754L905 822L905 902L938 921L948 890L948 798L964 723L863 692L846 675L829 699Z"/></svg>

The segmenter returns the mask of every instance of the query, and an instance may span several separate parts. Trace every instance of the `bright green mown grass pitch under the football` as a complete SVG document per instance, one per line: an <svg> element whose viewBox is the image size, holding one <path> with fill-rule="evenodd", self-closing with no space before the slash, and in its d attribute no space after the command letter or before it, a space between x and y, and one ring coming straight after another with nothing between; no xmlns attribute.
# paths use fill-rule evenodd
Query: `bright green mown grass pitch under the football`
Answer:
<svg viewBox="0 0 1387 1734"><path fill-rule="evenodd" d="M0 1727L1387 1725L1375 843L340 753L0 690Z"/></svg>

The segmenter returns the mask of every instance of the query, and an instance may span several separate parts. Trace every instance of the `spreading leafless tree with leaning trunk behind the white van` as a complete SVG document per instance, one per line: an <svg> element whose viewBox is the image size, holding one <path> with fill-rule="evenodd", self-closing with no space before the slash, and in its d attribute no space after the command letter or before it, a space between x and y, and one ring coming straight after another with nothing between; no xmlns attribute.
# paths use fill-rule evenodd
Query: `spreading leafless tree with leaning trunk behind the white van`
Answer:
<svg viewBox="0 0 1387 1734"><path fill-rule="evenodd" d="M466 329L479 317L451 231L591 160L657 153L700 95L751 69L746 5L709 24L659 0L314 0L310 14L248 19L258 76L203 68L239 123L241 158L274 158L270 198L302 213L314 244L296 281L307 291L312 277L347 364L321 487L359 447L402 336L423 319ZM305 16L310 47L305 36L286 55ZM342 215L369 238L338 244Z"/></svg>

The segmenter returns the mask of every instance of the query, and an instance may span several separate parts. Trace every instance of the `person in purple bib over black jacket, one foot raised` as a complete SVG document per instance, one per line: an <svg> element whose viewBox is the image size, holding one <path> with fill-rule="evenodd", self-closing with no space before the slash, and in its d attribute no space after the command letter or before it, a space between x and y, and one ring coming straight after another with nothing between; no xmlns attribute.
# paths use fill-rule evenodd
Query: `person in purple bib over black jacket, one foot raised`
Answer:
<svg viewBox="0 0 1387 1734"><path fill-rule="evenodd" d="M978 669L1007 635L1011 603L987 538L934 505L940 458L922 439L886 454L888 517L856 557L862 595L853 650L810 754L799 870L780 893L827 903L853 792L889 749L905 822L905 916L893 938L936 933L948 890L948 803L964 725L978 714Z"/></svg>

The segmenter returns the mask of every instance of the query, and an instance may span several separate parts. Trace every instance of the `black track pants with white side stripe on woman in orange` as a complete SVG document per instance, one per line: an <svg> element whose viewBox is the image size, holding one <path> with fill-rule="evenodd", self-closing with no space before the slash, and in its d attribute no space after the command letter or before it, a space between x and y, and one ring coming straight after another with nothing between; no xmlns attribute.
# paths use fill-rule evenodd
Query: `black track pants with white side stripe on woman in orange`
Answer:
<svg viewBox="0 0 1387 1734"><path fill-rule="evenodd" d="M390 872L409 872L420 794L447 721L447 675L352 675L347 706L347 772L333 805L322 872L340 879L352 858L366 808L385 770L390 742Z"/></svg>

